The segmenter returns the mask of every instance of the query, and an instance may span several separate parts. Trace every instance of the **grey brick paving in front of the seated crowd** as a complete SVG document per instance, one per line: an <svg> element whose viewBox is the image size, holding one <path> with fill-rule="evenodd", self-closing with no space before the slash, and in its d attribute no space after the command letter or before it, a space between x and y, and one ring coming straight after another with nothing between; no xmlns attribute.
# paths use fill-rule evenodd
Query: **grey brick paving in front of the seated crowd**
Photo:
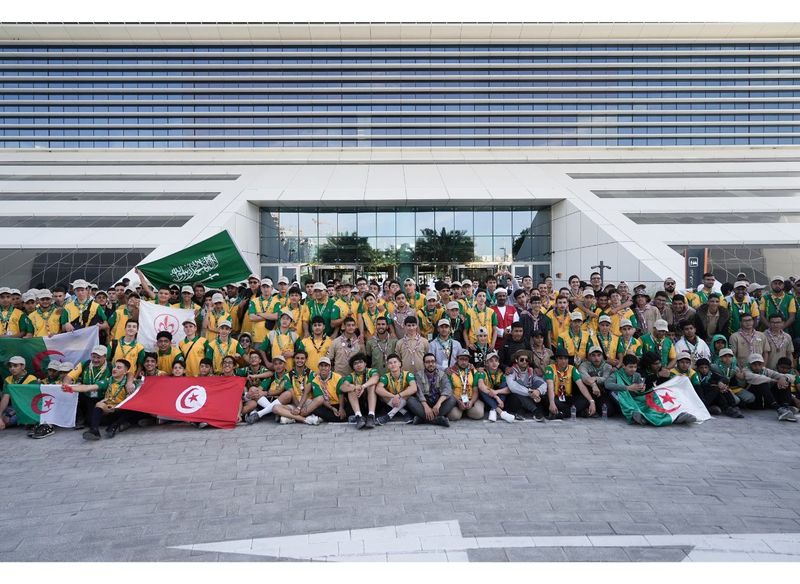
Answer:
<svg viewBox="0 0 800 584"><path fill-rule="evenodd" d="M800 533L800 424L769 412L661 429L612 419L356 432L267 420L99 443L80 434L0 433L0 561L274 560L174 546L424 522L484 538L450 558L471 561L681 561L692 549L550 536ZM489 539L508 536L519 537Z"/></svg>

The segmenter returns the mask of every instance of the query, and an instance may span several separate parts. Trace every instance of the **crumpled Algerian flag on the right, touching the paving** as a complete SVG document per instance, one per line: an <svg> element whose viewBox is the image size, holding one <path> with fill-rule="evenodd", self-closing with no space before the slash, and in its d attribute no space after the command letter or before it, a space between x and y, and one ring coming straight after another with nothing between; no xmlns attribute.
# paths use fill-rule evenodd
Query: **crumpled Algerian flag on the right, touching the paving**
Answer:
<svg viewBox="0 0 800 584"><path fill-rule="evenodd" d="M638 411L654 426L669 426L683 413L693 415L698 422L711 419L692 382L682 375L643 394L617 392L617 399L626 418L630 419L633 412Z"/></svg>

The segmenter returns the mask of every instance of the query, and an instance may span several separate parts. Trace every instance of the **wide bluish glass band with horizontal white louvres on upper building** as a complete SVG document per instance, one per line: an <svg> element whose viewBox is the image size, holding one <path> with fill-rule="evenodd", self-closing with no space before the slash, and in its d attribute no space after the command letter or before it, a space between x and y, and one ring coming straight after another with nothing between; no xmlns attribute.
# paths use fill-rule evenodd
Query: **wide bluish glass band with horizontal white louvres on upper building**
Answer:
<svg viewBox="0 0 800 584"><path fill-rule="evenodd" d="M0 147L800 143L800 44L0 46Z"/></svg>

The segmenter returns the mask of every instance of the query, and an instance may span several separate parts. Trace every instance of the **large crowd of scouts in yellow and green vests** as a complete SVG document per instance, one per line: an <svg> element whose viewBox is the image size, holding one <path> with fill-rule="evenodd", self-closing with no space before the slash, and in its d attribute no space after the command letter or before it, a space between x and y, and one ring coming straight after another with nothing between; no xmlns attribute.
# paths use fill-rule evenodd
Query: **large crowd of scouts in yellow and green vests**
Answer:
<svg viewBox="0 0 800 584"><path fill-rule="evenodd" d="M101 344L83 363L50 360L46 375L12 357L3 381L69 385L79 393L78 426L87 440L157 422L116 407L148 376L247 378L240 421L350 422L357 429L392 420L449 426L463 417L513 423L623 414L654 423L629 397L675 376L689 379L712 415L743 417L743 407L774 409L797 421L795 369L800 281L769 287L739 274L720 283L705 274L697 290L668 278L646 286L606 285L599 273L534 286L508 271L482 282L444 278L430 289L406 279L357 278L301 287L250 276L224 289L151 287L143 274L107 291L84 280L71 290L0 288L0 335L49 337L97 325ZM140 302L191 309L185 338L137 340ZM621 399L625 398L625 399ZM9 395L0 429L15 425ZM682 414L672 423L695 421ZM659 425L657 423L657 425ZM32 438L51 425L28 428Z"/></svg>

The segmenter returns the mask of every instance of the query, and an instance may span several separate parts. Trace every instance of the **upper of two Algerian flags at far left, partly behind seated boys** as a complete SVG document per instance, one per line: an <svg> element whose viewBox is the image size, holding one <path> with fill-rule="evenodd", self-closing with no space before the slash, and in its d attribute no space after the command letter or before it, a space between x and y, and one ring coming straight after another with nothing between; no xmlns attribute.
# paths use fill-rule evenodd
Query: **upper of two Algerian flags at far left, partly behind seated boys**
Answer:
<svg viewBox="0 0 800 584"><path fill-rule="evenodd" d="M96 325L52 337L0 337L0 371L3 377L7 376L8 360L18 355L25 358L28 373L41 379L51 359L77 365L89 359L98 344L100 336Z"/></svg>

